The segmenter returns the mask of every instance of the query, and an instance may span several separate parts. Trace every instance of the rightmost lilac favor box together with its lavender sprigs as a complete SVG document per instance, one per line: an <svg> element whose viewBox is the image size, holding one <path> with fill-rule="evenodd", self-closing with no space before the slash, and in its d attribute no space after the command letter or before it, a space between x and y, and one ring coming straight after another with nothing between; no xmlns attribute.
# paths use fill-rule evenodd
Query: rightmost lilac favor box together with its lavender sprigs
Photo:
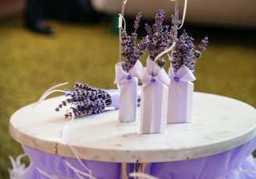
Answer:
<svg viewBox="0 0 256 179"><path fill-rule="evenodd" d="M194 66L197 58L201 58L202 52L206 49L208 37L201 40L198 50L195 50L193 40L193 37L190 37L183 30L171 54L168 123L184 123L192 120L193 81L196 79L194 77Z"/></svg>

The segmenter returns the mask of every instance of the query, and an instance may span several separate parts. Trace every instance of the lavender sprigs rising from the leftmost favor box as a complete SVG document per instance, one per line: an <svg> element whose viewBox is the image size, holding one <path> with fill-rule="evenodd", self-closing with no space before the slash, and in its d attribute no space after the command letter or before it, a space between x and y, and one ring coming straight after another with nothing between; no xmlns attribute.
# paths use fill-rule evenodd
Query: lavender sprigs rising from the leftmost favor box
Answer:
<svg viewBox="0 0 256 179"><path fill-rule="evenodd" d="M120 40L122 47L122 56L125 58L125 61L122 63L123 70L129 72L130 68L133 68L133 65L136 64L140 57L145 53L146 50L146 40L143 38L140 40L140 43L137 44L137 29L139 28L140 18L142 13L139 12L134 19L134 32L131 35L126 33L126 30L121 28Z"/></svg>

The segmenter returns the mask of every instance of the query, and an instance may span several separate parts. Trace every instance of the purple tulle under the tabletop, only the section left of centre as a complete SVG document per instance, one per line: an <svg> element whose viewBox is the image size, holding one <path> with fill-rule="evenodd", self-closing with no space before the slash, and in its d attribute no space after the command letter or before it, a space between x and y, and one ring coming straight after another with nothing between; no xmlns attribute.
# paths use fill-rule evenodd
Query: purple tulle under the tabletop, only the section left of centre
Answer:
<svg viewBox="0 0 256 179"><path fill-rule="evenodd" d="M69 158L65 156L55 156L48 153L42 153L36 149L31 149L27 146L23 146L25 153L30 158L30 167L27 168L23 174L23 179L48 179L49 177L41 174L39 170L43 170L45 173L54 175L53 178L79 178L74 170L66 165L65 162L69 162L77 170L87 173L84 167L81 166L78 160L75 158ZM97 179L103 178L119 178L120 164L119 163L107 163L97 162L91 160L82 160L84 165L92 171L92 176ZM38 169L39 170L38 170ZM84 177L88 178L88 177Z"/></svg>

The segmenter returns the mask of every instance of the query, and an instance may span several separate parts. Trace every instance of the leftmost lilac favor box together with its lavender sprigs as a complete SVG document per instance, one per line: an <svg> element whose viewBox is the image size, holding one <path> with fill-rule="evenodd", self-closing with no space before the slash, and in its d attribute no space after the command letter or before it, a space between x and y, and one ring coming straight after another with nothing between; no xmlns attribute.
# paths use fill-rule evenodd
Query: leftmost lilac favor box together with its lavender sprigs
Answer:
<svg viewBox="0 0 256 179"><path fill-rule="evenodd" d="M116 64L115 83L119 86L119 121L130 122L136 121L137 116L137 90L138 79L141 77L142 64L140 57L146 50L146 39L140 40L137 44L137 29L140 26L139 12L134 19L134 32L131 35L126 33L123 27L120 27L120 47L121 55L124 61Z"/></svg>

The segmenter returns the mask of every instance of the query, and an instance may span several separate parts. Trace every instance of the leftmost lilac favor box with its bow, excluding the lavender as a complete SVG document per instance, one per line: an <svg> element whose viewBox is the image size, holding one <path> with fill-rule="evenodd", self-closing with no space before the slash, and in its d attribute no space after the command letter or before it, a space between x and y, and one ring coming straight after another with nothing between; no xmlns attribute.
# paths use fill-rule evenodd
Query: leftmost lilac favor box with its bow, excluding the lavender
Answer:
<svg viewBox="0 0 256 179"><path fill-rule="evenodd" d="M136 121L137 117L137 91L138 79L142 71L142 64L137 61L136 64L125 72L122 68L122 62L116 64L115 83L119 86L119 121Z"/></svg>

